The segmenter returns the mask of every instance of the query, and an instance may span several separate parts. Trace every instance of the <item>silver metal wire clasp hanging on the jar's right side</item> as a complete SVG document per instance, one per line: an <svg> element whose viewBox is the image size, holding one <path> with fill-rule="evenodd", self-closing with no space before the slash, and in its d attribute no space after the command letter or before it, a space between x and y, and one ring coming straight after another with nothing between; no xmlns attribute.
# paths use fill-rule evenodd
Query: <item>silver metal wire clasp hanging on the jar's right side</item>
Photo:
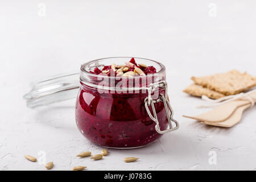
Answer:
<svg viewBox="0 0 256 182"><path fill-rule="evenodd" d="M152 100L151 94L155 91L155 89L157 87L165 89L166 94L164 95L161 93L158 99ZM146 97L144 100L147 113L148 113L149 117L156 123L155 130L159 134L165 134L170 131L177 130L179 128L179 123L173 118L174 111L172 110L170 102L167 100L167 97L168 97L167 96L167 88L168 87L167 87L166 81L160 81L160 82L156 82L154 84L150 84L150 87L147 89L148 97ZM155 110L155 106L154 106L154 104L156 102L163 102L163 104L164 104L164 109L166 111L166 115L167 115L167 119L168 119L168 123L169 123L169 129L167 129L167 130L164 130L164 131L160 130L158 117L156 115L156 110ZM151 105L151 108L153 111L153 115L151 114L150 110L148 109L148 106L150 106L150 105ZM174 122L176 124L175 127L172 126L172 122Z"/></svg>

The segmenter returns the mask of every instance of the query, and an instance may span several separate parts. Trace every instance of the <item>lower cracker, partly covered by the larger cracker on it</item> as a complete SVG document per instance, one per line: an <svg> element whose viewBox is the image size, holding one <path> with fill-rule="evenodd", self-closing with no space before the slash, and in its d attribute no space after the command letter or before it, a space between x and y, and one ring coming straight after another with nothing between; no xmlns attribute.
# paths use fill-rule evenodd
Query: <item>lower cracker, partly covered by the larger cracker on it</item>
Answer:
<svg viewBox="0 0 256 182"><path fill-rule="evenodd" d="M191 94L192 96L196 96L196 97L207 96L207 97L212 98L212 99L218 99L218 98L221 98L221 97L225 96L222 93L218 93L214 90L204 88L203 86L197 85L197 84L189 85L188 88L183 90L183 92Z"/></svg>

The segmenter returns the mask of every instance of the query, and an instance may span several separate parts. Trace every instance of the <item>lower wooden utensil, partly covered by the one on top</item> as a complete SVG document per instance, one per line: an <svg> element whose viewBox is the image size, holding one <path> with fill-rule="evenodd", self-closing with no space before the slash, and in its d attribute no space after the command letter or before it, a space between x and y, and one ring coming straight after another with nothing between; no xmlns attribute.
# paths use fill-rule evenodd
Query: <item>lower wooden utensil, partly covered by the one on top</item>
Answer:
<svg viewBox="0 0 256 182"><path fill-rule="evenodd" d="M218 123L216 123L216 122L201 122L201 123L204 123L206 125L212 125L212 126L232 127L241 121L243 111L248 109L250 106L251 106L251 104L247 104L245 106L238 107L238 109L236 111L234 111L232 116L229 117L228 119L226 119L224 122L218 122Z"/></svg>

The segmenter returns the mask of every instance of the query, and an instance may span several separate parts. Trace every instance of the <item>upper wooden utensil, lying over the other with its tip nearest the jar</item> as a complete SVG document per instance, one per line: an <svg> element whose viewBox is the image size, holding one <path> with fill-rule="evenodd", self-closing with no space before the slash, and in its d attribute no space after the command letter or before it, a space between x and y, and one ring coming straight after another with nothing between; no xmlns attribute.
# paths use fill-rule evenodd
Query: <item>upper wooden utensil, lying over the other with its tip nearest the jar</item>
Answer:
<svg viewBox="0 0 256 182"><path fill-rule="evenodd" d="M185 118L196 119L203 122L223 122L236 111L239 107L246 106L250 104L250 101L247 100L236 100L230 101L224 105L214 108L213 110L208 111L207 113L197 115L195 117L183 115Z"/></svg>

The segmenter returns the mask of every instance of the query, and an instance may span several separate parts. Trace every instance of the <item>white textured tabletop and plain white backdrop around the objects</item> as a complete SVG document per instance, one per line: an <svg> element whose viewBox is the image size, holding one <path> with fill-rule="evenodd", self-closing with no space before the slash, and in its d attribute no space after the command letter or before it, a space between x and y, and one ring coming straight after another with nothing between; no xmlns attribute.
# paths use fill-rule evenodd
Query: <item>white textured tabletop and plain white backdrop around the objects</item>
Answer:
<svg viewBox="0 0 256 182"><path fill-rule="evenodd" d="M43 3L43 4L40 4ZM212 4L213 3L213 4ZM46 5L46 16L40 7ZM211 8L216 6L216 12ZM231 129L183 118L204 110L182 90L191 76L230 69L255 73L255 1L4 1L0 2L0 169L45 170L24 159L46 152L53 169L256 169L255 107ZM79 71L86 61L137 56L167 67L180 129L136 150L110 150L104 160L77 159L101 148L75 124L75 100L28 109L22 96L31 81ZM210 165L215 151L217 164ZM126 156L140 158L123 163Z"/></svg>

